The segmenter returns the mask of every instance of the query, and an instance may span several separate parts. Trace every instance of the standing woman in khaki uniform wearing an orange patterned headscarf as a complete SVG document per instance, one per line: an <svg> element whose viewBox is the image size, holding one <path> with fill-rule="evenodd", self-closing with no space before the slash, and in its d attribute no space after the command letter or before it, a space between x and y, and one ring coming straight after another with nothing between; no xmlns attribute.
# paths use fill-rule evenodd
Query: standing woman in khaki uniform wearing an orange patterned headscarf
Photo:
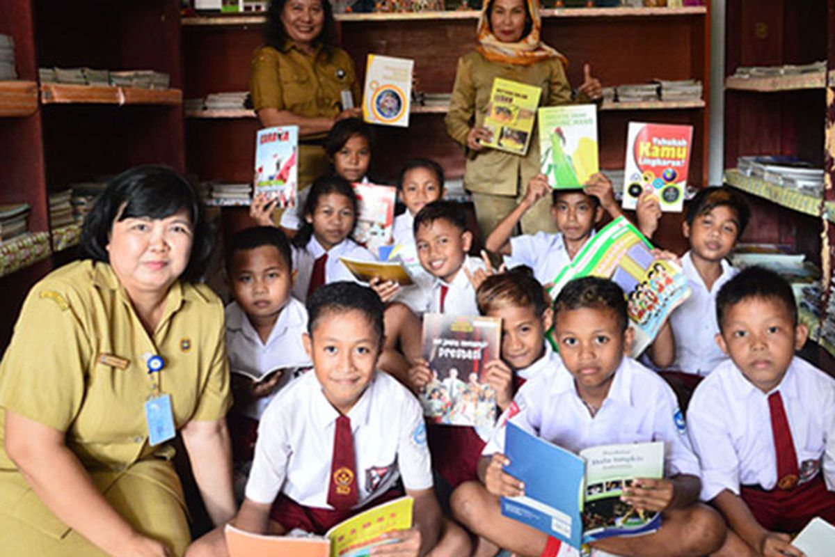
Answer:
<svg viewBox="0 0 835 557"><path fill-rule="evenodd" d="M483 237L514 210L524 196L524 185L539 173L539 134L529 142L528 154L505 153L480 143L491 132L483 127L494 78L505 78L542 88L540 106L568 104L572 92L565 77L565 57L539 40L542 22L536 0L486 0L478 19L479 46L458 59L453 95L446 117L447 131L467 149L464 187L473 195L478 227ZM578 89L580 102L601 99L600 81L584 68ZM522 187L519 187L522 184ZM550 205L540 203L522 219L524 233L556 231Z"/></svg>

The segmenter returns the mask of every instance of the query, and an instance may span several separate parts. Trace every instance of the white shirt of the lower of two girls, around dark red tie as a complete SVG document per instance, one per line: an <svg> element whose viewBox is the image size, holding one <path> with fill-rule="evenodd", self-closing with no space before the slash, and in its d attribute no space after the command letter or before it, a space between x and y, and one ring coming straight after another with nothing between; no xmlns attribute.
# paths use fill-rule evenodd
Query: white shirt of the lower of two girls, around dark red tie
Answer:
<svg viewBox="0 0 835 557"><path fill-rule="evenodd" d="M307 287L311 283L313 265L324 253L325 248L316 240L316 236L311 236L310 241L307 242L307 246L303 249L293 247L293 269L297 271L296 284L293 285L293 296L296 296L296 299L301 301L307 300ZM327 251L324 284L336 281L353 281L362 284L362 282L357 281L357 278L351 274L351 271L348 271L347 266L342 261L339 261L340 257L350 257L361 261L377 261L377 257L371 251L368 251L350 238L346 238Z"/></svg>

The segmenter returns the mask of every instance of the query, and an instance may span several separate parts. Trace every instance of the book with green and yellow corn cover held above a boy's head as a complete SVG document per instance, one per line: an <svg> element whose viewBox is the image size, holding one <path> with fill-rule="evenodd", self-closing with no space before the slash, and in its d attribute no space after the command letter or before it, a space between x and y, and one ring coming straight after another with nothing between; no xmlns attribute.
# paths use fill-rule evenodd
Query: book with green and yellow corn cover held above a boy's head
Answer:
<svg viewBox="0 0 835 557"><path fill-rule="evenodd" d="M581 188L600 170L597 106L566 104L539 109L539 166L555 190Z"/></svg>

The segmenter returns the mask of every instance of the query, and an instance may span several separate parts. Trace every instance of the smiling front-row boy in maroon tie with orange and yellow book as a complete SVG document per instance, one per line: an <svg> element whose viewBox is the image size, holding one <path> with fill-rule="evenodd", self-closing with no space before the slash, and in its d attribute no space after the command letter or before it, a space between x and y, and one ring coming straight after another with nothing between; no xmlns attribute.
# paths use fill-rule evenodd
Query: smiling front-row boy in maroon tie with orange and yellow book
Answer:
<svg viewBox="0 0 835 557"><path fill-rule="evenodd" d="M352 282L322 286L307 303L304 337L313 372L282 390L261 418L246 499L233 524L255 534L327 529L399 496L414 498L414 527L386 534L387 554L468 554L463 530L433 494L423 412L412 394L377 372L382 302ZM216 529L200 549L223 554ZM208 551L207 551L208 553Z"/></svg>

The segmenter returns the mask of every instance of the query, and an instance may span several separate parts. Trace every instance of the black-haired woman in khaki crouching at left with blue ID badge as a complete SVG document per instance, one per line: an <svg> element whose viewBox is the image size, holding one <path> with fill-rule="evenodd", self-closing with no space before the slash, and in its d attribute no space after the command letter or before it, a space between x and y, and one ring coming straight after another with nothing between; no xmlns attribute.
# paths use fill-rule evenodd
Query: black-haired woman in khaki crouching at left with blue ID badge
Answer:
<svg viewBox="0 0 835 557"><path fill-rule="evenodd" d="M87 258L29 292L0 364L0 548L180 555L175 432L215 524L235 513L223 306L196 282L207 225L185 180L144 166L113 180L82 239Z"/></svg>

